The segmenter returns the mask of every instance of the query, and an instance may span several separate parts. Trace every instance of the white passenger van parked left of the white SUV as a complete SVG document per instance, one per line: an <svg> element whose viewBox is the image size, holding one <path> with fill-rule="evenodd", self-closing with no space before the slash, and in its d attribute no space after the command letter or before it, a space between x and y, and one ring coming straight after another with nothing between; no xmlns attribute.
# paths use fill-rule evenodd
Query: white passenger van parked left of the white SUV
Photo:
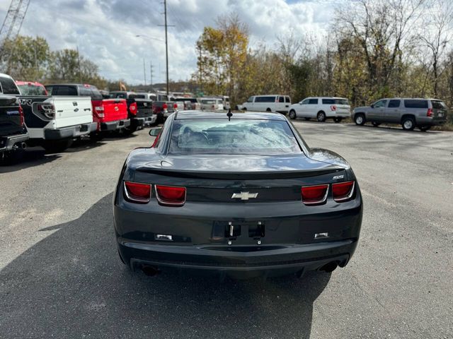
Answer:
<svg viewBox="0 0 453 339"><path fill-rule="evenodd" d="M268 94L268 95L253 95L249 97L247 102L238 105L238 109L254 112L278 112L287 114L291 98L288 95Z"/></svg>

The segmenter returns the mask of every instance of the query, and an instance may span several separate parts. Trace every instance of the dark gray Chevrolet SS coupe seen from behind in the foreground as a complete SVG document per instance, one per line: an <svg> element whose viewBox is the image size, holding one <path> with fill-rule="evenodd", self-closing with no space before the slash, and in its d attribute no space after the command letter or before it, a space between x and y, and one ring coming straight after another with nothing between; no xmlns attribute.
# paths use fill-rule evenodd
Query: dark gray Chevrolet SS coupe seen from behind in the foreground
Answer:
<svg viewBox="0 0 453 339"><path fill-rule="evenodd" d="M132 269L249 278L345 266L362 197L348 162L310 149L282 114L186 111L132 150L113 211Z"/></svg>

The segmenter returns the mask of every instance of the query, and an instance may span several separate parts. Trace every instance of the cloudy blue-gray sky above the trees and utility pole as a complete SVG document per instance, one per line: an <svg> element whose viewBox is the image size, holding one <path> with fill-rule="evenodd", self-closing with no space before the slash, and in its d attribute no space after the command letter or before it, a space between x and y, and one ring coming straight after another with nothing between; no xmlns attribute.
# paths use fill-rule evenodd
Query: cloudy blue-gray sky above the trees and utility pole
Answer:
<svg viewBox="0 0 453 339"><path fill-rule="evenodd" d="M340 0L168 0L168 59L173 80L196 70L195 41L217 16L234 11L248 24L251 47L297 32L322 35ZM343 0L344 1L344 0ZM3 22L10 1L0 1ZM31 0L21 35L40 35L52 50L79 47L108 79L147 83L150 62L153 83L165 81L163 0ZM144 37L136 37L144 35ZM154 38L154 39L151 39ZM33 80L33 79L28 79Z"/></svg>

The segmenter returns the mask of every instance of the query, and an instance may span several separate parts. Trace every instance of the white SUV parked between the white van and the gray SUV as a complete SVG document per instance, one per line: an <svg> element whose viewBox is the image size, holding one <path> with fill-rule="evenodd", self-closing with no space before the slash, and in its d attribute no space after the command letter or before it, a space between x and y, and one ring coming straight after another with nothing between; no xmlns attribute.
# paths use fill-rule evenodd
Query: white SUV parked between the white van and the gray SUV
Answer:
<svg viewBox="0 0 453 339"><path fill-rule="evenodd" d="M348 99L344 97L307 97L301 102L289 107L289 118L298 117L309 120L316 118L318 121L333 119L340 122L343 118L350 118L351 107Z"/></svg>

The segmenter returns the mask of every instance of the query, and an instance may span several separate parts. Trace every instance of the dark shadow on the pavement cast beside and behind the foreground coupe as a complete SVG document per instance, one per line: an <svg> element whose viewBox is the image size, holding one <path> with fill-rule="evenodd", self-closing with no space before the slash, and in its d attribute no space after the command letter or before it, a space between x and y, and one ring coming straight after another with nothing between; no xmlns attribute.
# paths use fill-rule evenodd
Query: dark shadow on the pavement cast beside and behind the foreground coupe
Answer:
<svg viewBox="0 0 453 339"><path fill-rule="evenodd" d="M132 273L117 255L112 194L0 271L0 338L309 338L331 275L219 283Z"/></svg>

